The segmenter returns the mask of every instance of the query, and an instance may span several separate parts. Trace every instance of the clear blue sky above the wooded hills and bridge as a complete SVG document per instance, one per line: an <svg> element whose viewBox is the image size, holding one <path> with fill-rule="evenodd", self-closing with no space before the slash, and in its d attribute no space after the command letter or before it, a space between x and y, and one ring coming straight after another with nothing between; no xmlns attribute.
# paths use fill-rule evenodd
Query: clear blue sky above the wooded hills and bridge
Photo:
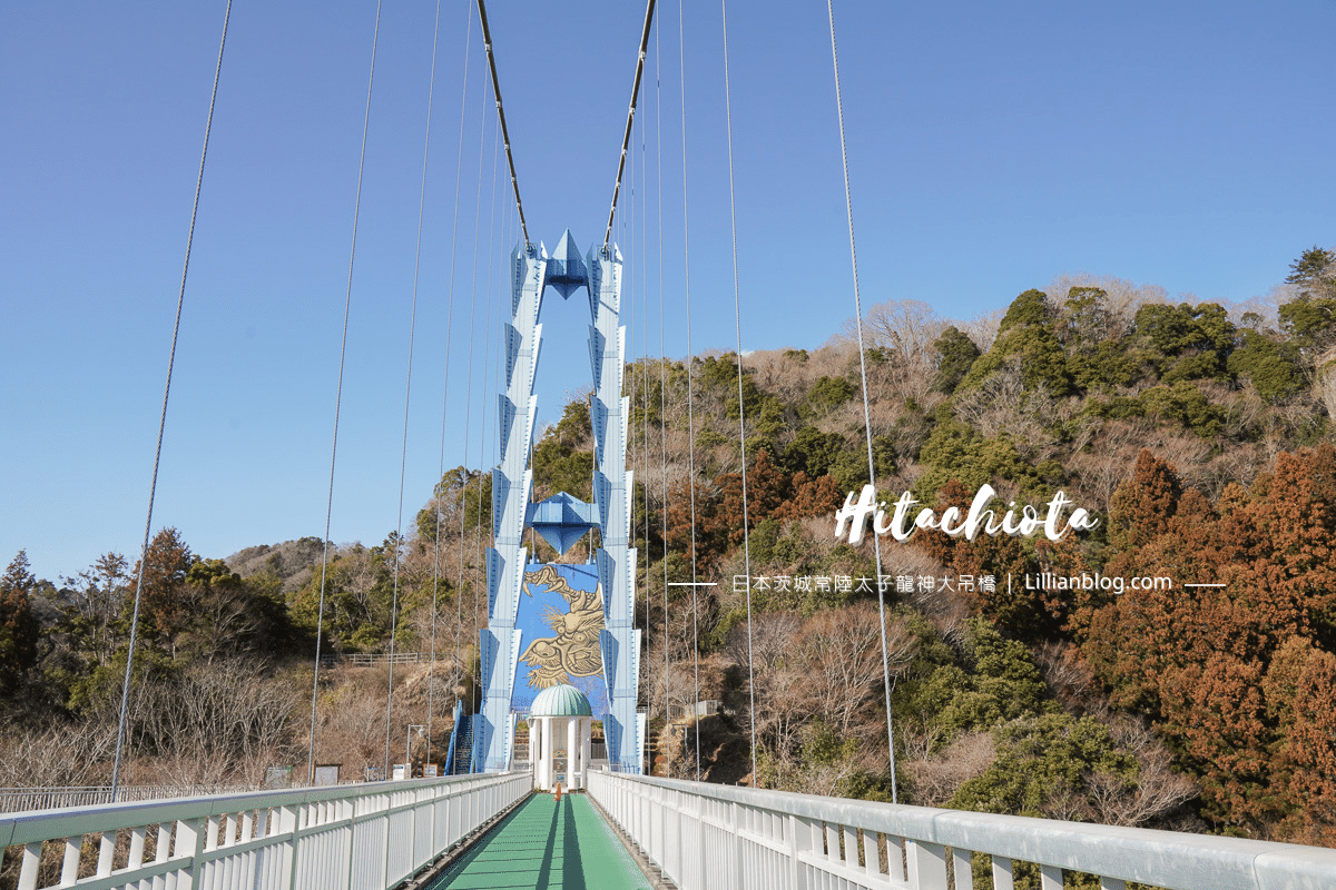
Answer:
<svg viewBox="0 0 1336 890"><path fill-rule="evenodd" d="M0 9L0 559L27 548L40 576L138 552L223 8ZM969 318L1065 271L1238 302L1265 294L1304 248L1336 243L1331 1L835 8L864 306L914 298ZM513 204L504 177L492 199L494 116L476 24L452 248L470 9L449 0L441 11L406 526L437 478L442 404L446 467L465 460L474 294L466 459L490 466L496 454L494 399L484 408L480 380L490 394L498 320L485 319ZM550 248L569 227L588 247L607 216L643 5L493 0L489 11L530 235ZM434 13L428 0L383 8L339 542L378 543L398 524ZM232 9L154 514L155 528L176 526L206 556L325 526L374 15L373 0ZM635 231L624 192L617 239L633 282L628 354L645 351L645 331L657 354L661 141L664 336L681 356L677 4L659 15ZM852 315L826 7L735 0L728 16L743 346L816 347ZM731 347L719 4L688 4L685 35L692 346ZM548 300L540 416L552 422L588 363L584 307Z"/></svg>

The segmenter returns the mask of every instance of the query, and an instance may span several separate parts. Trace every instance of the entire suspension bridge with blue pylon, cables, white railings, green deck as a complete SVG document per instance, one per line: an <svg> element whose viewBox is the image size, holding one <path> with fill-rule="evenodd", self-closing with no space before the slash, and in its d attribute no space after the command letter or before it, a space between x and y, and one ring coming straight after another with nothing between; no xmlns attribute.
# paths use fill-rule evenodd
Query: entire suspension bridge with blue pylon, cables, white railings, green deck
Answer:
<svg viewBox="0 0 1336 890"><path fill-rule="evenodd" d="M655 0L649 0L645 8L607 226L600 238L585 248L570 231L565 231L549 252L530 234L524 215L521 180L505 120L501 72L493 52L486 8L482 0L477 0L500 144L504 144L514 197L518 240L506 264L508 316L501 322L504 387L497 392L498 454L492 471L493 546L485 560L486 622L477 640L480 664L476 682L481 689L481 702L476 709L462 701L456 706L454 729L444 758L445 775L128 802L116 799L120 751L124 747L122 738L116 747L111 803L32 810L0 818L0 846L19 851L17 887L966 890L991 883L997 890L1007 890L1018 874L1029 874L1017 871L1018 863L1027 863L1026 867L1037 873L1043 890L1059 890L1081 879L1097 882L1102 890L1121 890L1129 882L1213 890L1336 887L1336 851L1325 849L822 798L647 774L649 738L640 707L645 699L640 689L644 628L636 620L639 554L631 527L635 487L628 470L629 399L624 395L627 330L623 324L623 282L627 260L613 242L613 232L647 53L657 25L655 7ZM230 9L228 4L228 16ZM839 104L839 61L831 3L827 11ZM727 95L725 7L723 21ZM226 45L226 29L224 20L222 45ZM374 52L371 71L374 73ZM219 76L215 76L215 97L218 81ZM731 107L728 112L732 203ZM839 115L843 144L843 108L839 108ZM365 137L363 129L363 157ZM206 131L200 181L207 141ZM860 319L847 161L844 184L854 318ZM196 187L196 211L198 207ZM736 221L733 226L736 355L741 356L741 315L736 311ZM353 250L355 252L355 223ZM187 270L188 258L187 248ZM349 299L351 287L350 274ZM182 300L184 294L183 274ZM589 502L568 492L537 502L532 496L530 462L537 419L534 384L540 378L542 346L540 318L545 302L552 302L553 296L560 296L564 303L580 296L589 310L588 355L593 378L589 410L595 440ZM689 288L683 308L688 318L691 354ZM178 306L178 330L179 319ZM860 330L858 342L862 360ZM739 359L740 406L744 403L741 374ZM339 380L342 386L342 358ZM170 387L168 367L168 395ZM866 388L864 372L864 418ZM689 416L689 396L687 408ZM164 396L163 424L166 418ZM406 428L405 423L405 436ZM864 428L871 476L870 420ZM337 411L334 430L337 454ZM744 418L739 418L739 447L745 452ZM331 459L330 502L333 490ZM745 470L743 511L745 526ZM151 520L152 496L146 548ZM525 546L526 532L529 546ZM560 555L595 534L597 546L589 543L589 559L584 564L533 562L534 536L541 536ZM325 539L329 540L329 512ZM879 551L876 560L880 564ZM397 571L395 564L395 578ZM683 582L692 587L693 595L695 583ZM667 570L661 586L667 612ZM749 590L748 584L748 596ZM572 619L565 622L569 634L536 638L536 614L541 606L552 608L553 603ZM884 608L884 603L882 606ZM138 608L136 596L136 619ZM323 619L323 583L321 610ZM132 632L131 658L134 646ZM884 648L883 618L886 755L887 769L894 777L894 726L890 725L890 671ZM434 658L433 648L430 659ZM546 664L544 659L550 658L564 666L558 674L566 682L541 682L536 687L521 677L521 663L541 669ZM395 660L391 643L385 662L393 664ZM319 691L321 664L322 654L317 651L311 775L315 766L314 698ZM127 663L127 694L131 671L132 663ZM538 687L544 691L538 693ZM393 697L393 673L389 695ZM699 699L699 690L695 699ZM123 734L124 703L122 711ZM665 711L671 711L671 706L665 706ZM605 738L597 751L591 739L595 717L601 722ZM389 715L386 725L389 727ZM696 726L699 733L699 722ZM752 742L755 751L755 730ZM699 735L696 745L699 775ZM599 757L595 757L596 753Z"/></svg>

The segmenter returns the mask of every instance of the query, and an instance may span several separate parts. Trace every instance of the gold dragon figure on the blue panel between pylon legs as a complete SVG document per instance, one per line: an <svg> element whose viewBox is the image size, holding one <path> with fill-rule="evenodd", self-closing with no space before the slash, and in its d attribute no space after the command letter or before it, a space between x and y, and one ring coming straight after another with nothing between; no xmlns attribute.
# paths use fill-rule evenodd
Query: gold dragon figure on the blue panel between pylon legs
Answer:
<svg viewBox="0 0 1336 890"><path fill-rule="evenodd" d="M529 686L548 689L569 683L576 677L595 677L603 670L599 651L599 631L603 630L603 604L597 590L576 590L552 566L525 572L524 592L533 596L529 586L546 587L560 594L570 604L569 611L552 606L542 610L542 623L554 636L541 636L524 650L521 658L529 664Z"/></svg>

